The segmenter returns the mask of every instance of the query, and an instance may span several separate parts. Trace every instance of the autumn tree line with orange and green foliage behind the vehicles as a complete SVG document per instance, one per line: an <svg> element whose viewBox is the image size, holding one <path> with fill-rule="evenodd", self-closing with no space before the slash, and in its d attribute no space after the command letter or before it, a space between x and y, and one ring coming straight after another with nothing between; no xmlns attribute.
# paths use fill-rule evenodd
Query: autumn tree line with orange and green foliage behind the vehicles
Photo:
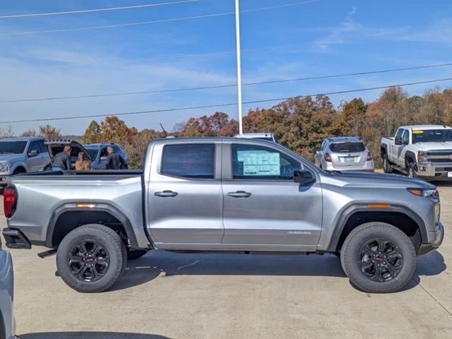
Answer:
<svg viewBox="0 0 452 339"><path fill-rule="evenodd" d="M325 95L294 97L271 108L250 109L243 118L245 132L272 132L279 143L303 157L313 160L312 150L328 136L359 136L381 164L380 139L392 136L398 126L407 124L452 125L452 88L428 90L424 95L410 96L402 88L388 88L373 102L357 97L339 107ZM191 117L175 124L173 136L234 136L238 121L224 112ZM11 126L0 129L0 137L13 134ZM23 136L61 137L54 126L43 125ZM129 155L129 168L142 166L149 141L166 136L163 131L138 131L118 117L106 117L100 124L93 120L83 134L83 143L114 142Z"/></svg>

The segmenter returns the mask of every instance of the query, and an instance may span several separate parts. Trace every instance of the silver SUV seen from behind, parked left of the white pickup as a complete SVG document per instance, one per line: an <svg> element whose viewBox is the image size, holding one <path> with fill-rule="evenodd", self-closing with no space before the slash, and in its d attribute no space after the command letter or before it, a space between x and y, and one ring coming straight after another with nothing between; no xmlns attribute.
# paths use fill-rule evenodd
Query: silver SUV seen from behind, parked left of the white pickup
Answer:
<svg viewBox="0 0 452 339"><path fill-rule="evenodd" d="M326 138L313 153L315 166L327 171L373 172L372 153L357 136Z"/></svg>

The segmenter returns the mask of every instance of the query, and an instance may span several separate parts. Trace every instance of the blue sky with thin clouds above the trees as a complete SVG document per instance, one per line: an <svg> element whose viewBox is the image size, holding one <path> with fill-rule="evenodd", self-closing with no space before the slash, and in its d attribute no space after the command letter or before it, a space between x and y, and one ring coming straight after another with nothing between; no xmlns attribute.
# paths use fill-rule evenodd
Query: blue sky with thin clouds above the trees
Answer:
<svg viewBox="0 0 452 339"><path fill-rule="evenodd" d="M0 3L0 16L166 1L3 0ZM299 1L241 0L241 10L295 2ZM200 0L123 11L0 19L0 101L235 83L236 56L233 51L236 41L233 15L76 32L1 35L8 32L134 23L231 11L234 11L233 0ZM243 13L241 29L244 82L452 61L452 2L446 0L320 0ZM448 66L246 86L243 88L243 100L264 100L451 77L452 66ZM406 89L410 94L422 94L435 85L444 88L451 83L415 85ZM331 99L335 105L356 96L371 101L380 92L373 90L332 95ZM236 88L223 88L78 100L0 103L0 120L115 114L236 101ZM272 105L274 103L259 106ZM245 111L250 108L255 108L255 105L244 107ZM216 110L226 112L231 117L237 115L237 107L222 107L127 116L122 119L138 129L158 129L158 123L161 122L170 130L177 122L192 116L211 114ZM91 119L50 121L50 124L60 127L65 134L81 134L90 121ZM20 123L13 124L13 129L16 133L21 133L36 126L37 123Z"/></svg>

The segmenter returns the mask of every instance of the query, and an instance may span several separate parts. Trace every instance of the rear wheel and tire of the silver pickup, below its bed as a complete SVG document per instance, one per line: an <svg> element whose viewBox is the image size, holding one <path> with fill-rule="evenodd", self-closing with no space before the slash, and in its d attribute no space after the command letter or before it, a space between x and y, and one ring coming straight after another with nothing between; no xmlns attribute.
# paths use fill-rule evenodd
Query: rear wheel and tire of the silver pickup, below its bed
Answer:
<svg viewBox="0 0 452 339"><path fill-rule="evenodd" d="M58 246L58 273L64 283L78 292L108 290L120 278L126 265L124 242L119 234L103 225L77 227Z"/></svg>

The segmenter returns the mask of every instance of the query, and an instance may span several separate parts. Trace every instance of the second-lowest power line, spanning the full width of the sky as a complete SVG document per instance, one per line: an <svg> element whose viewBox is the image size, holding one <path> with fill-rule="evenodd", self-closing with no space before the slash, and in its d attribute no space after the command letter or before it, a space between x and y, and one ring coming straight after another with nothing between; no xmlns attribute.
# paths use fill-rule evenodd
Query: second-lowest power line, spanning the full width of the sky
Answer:
<svg viewBox="0 0 452 339"><path fill-rule="evenodd" d="M443 67L443 66L452 66L452 63L405 67L402 69L384 69L384 70L380 70L380 71L365 71L365 72L359 72L359 73L343 73L343 74L332 74L332 75L326 75L326 76L311 76L311 77L305 77L305 78L292 78L292 79L284 79L284 80L256 81L256 82L251 82L251 83L243 83L243 86L264 85L264 84L271 84L271 83L288 83L288 82L309 81L309 80L318 80L318 79L327 79L327 78L342 78L342 77L346 77L346 76L363 76L363 75L377 74L377 73L410 71L410 70L415 70L415 69L431 69L434 67ZM191 91L191 90L214 90L214 89L219 89L219 88L234 88L236 86L237 86L236 84L234 84L234 85L213 85L213 86L202 86L202 87L192 87L192 88L173 88L173 89L168 89L168 90L142 90L142 91L137 91L137 92L123 92L123 93L104 93L104 94L93 94L93 95L74 95L74 96L66 96L66 97L40 97L40 98L17 99L17 100L0 100L0 104L13 103L13 102L35 102L35 101L83 99L83 98L91 98L91 97L115 97L115 96L124 96L124 95L173 93L173 92L185 92L185 91Z"/></svg>

